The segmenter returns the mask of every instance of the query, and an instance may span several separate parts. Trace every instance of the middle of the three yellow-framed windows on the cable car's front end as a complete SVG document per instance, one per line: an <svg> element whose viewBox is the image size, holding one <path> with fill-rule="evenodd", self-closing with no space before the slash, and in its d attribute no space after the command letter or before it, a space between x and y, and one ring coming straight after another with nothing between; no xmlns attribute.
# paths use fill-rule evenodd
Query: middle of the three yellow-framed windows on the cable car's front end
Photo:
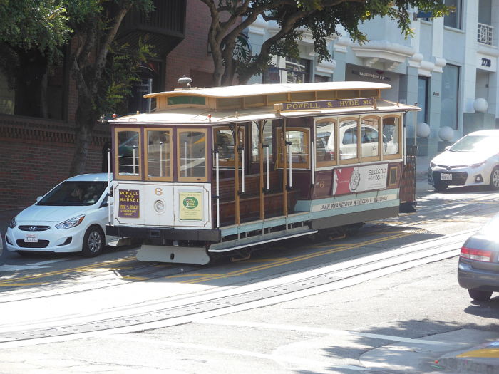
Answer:
<svg viewBox="0 0 499 374"><path fill-rule="evenodd" d="M173 180L172 129L145 128L145 175L148 180Z"/></svg>

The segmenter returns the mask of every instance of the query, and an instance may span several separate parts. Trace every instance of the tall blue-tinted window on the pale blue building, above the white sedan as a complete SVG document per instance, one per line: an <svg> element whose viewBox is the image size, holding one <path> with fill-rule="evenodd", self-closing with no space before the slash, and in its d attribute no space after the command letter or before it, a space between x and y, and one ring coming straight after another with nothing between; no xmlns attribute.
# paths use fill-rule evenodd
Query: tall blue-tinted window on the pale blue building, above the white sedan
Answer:
<svg viewBox="0 0 499 374"><path fill-rule="evenodd" d="M446 65L442 74L440 126L458 128L459 66Z"/></svg>

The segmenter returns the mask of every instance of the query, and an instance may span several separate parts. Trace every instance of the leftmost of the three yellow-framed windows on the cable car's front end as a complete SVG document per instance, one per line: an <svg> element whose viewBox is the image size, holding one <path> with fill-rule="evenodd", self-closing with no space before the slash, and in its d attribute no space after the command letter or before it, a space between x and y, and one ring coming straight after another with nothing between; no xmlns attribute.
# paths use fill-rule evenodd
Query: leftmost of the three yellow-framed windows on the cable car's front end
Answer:
<svg viewBox="0 0 499 374"><path fill-rule="evenodd" d="M116 177L119 179L140 180L140 130L128 128L115 129L115 157Z"/></svg>

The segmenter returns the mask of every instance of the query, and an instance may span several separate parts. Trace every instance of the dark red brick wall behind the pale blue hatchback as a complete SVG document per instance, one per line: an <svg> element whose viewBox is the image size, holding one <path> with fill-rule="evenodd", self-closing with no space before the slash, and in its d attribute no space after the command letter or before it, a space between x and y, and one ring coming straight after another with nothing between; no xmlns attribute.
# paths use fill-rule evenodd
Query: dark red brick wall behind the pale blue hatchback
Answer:
<svg viewBox="0 0 499 374"><path fill-rule="evenodd" d="M101 172L110 128L94 131L86 172ZM0 115L0 209L27 207L66 180L73 158L74 126L62 121Z"/></svg>

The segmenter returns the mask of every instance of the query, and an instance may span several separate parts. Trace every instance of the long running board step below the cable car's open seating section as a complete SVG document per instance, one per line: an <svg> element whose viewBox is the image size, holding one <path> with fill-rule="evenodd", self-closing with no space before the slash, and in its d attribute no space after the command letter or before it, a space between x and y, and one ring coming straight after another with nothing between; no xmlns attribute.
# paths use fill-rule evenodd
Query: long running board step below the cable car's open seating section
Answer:
<svg viewBox="0 0 499 374"><path fill-rule="evenodd" d="M295 227L294 229L282 230L279 232L270 232L269 234L257 235L249 238L241 238L239 240L224 241L223 243L212 244L209 252L227 252L235 249L245 248L247 246L256 246L259 244L270 243L283 239L290 239L294 237L302 237L316 233L317 230L309 229L308 226Z"/></svg>

